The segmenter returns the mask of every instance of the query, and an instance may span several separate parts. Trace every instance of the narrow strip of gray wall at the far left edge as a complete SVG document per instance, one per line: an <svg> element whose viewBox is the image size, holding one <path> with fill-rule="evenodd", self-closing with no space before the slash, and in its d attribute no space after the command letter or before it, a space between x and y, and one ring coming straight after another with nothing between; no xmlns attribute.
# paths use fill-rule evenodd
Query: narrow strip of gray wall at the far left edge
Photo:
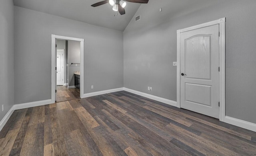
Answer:
<svg viewBox="0 0 256 156"><path fill-rule="evenodd" d="M14 6L0 1L0 121L14 105ZM4 105L4 111L2 111Z"/></svg>

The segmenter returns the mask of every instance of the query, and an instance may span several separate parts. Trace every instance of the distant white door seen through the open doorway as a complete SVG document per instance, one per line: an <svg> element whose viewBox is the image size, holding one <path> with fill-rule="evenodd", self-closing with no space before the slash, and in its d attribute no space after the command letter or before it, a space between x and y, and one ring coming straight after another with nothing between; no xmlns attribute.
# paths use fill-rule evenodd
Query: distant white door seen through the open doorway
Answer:
<svg viewBox="0 0 256 156"><path fill-rule="evenodd" d="M56 82L58 86L64 85L64 49L58 49L57 50L57 70L56 70Z"/></svg>

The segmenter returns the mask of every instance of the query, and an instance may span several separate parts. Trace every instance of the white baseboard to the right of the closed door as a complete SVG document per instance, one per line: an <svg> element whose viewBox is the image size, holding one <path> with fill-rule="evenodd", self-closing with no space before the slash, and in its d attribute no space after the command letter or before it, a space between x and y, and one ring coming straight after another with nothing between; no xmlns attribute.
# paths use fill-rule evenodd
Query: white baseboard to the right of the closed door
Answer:
<svg viewBox="0 0 256 156"><path fill-rule="evenodd" d="M235 125L235 126L242 127L244 129L248 129L248 130L256 132L256 124L255 123L250 123L248 121L244 121L244 120L240 120L240 119L236 119L236 118L228 117L228 116L225 117L225 121L226 121L226 123L229 123L231 125Z"/></svg>

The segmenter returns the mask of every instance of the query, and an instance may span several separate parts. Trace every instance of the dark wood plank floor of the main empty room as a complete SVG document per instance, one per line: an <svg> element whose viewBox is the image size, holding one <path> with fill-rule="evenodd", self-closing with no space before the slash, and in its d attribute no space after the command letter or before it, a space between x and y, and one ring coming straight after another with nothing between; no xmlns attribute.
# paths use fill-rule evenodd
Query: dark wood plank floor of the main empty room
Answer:
<svg viewBox="0 0 256 156"><path fill-rule="evenodd" d="M4 156L255 156L256 133L128 92L14 111Z"/></svg>

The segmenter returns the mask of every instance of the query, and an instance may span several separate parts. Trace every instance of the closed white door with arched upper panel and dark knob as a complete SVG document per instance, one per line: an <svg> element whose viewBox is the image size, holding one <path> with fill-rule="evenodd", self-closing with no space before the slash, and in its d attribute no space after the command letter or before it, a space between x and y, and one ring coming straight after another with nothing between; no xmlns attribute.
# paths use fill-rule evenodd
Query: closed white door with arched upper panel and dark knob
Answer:
<svg viewBox="0 0 256 156"><path fill-rule="evenodd" d="M180 107L219 118L219 25L180 34Z"/></svg>

